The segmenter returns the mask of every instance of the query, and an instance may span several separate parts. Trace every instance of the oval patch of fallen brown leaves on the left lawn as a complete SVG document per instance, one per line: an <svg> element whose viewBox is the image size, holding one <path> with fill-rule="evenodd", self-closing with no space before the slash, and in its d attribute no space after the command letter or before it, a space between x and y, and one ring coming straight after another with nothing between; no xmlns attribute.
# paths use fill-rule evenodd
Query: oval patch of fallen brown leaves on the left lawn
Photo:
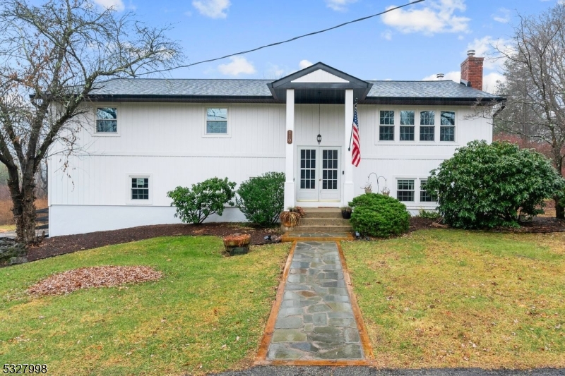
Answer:
<svg viewBox="0 0 565 376"><path fill-rule="evenodd" d="M28 289L35 295L61 295L90 287L111 287L157 281L162 273L152 267L81 267L43 279Z"/></svg>

